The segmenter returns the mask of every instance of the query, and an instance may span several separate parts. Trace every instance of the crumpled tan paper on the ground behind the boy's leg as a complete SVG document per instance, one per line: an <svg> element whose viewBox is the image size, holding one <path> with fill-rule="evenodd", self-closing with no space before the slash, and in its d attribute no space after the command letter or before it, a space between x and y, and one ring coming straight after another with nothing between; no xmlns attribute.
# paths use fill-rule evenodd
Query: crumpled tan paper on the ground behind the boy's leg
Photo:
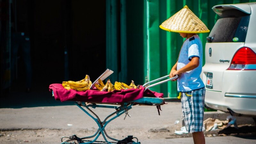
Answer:
<svg viewBox="0 0 256 144"><path fill-rule="evenodd" d="M215 118L207 118L203 122L203 129L206 132L213 131L213 130L216 130L218 128L223 128L223 126L225 126L227 124L228 124L228 120L220 121L220 120L215 119Z"/></svg>

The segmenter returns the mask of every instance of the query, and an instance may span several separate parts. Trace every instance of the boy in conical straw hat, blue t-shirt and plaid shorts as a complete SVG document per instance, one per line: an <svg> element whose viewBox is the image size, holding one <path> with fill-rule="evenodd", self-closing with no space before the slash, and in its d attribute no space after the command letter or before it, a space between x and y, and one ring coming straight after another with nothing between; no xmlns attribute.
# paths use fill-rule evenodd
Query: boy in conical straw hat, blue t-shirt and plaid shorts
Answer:
<svg viewBox="0 0 256 144"><path fill-rule="evenodd" d="M178 75L177 88L181 94L182 113L188 132L192 132L195 144L204 144L204 83L200 78L202 72L203 46L196 33L209 32L204 23L185 6L169 19L165 20L160 28L178 32L186 38L181 49L178 61L172 67L170 78Z"/></svg>

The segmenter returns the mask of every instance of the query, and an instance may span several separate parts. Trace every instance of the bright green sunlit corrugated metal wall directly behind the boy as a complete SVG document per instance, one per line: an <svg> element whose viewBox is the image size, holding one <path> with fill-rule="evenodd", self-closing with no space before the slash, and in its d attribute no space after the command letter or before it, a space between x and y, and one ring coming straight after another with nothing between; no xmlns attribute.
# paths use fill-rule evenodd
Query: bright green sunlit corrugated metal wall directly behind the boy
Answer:
<svg viewBox="0 0 256 144"><path fill-rule="evenodd" d="M255 0L145 0L147 5L147 38L145 44L144 63L145 76L148 80L154 80L168 75L172 66L176 63L183 38L174 32L167 32L159 28L164 20L180 11L185 5L200 18L208 29L212 29L219 18L212 11L212 7L218 4L235 4L255 2ZM203 45L209 33L198 34ZM163 92L165 97L176 98L177 82L168 82L151 88L156 92Z"/></svg>

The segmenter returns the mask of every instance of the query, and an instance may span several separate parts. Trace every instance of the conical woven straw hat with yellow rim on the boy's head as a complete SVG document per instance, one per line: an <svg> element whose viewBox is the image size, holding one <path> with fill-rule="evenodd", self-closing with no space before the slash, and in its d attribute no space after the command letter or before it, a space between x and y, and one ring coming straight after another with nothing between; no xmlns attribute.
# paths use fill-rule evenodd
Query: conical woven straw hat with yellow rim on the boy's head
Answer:
<svg viewBox="0 0 256 144"><path fill-rule="evenodd" d="M165 20L160 26L163 30L177 33L208 33L210 30L185 5L183 9Z"/></svg>

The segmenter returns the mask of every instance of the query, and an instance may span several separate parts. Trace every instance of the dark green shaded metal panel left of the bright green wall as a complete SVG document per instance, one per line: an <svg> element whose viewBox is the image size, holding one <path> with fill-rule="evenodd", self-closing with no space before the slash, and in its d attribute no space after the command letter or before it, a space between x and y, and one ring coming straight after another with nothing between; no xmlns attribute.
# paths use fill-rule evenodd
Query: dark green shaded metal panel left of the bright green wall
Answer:
<svg viewBox="0 0 256 144"><path fill-rule="evenodd" d="M144 1L106 0L106 67L111 82L144 84Z"/></svg>

